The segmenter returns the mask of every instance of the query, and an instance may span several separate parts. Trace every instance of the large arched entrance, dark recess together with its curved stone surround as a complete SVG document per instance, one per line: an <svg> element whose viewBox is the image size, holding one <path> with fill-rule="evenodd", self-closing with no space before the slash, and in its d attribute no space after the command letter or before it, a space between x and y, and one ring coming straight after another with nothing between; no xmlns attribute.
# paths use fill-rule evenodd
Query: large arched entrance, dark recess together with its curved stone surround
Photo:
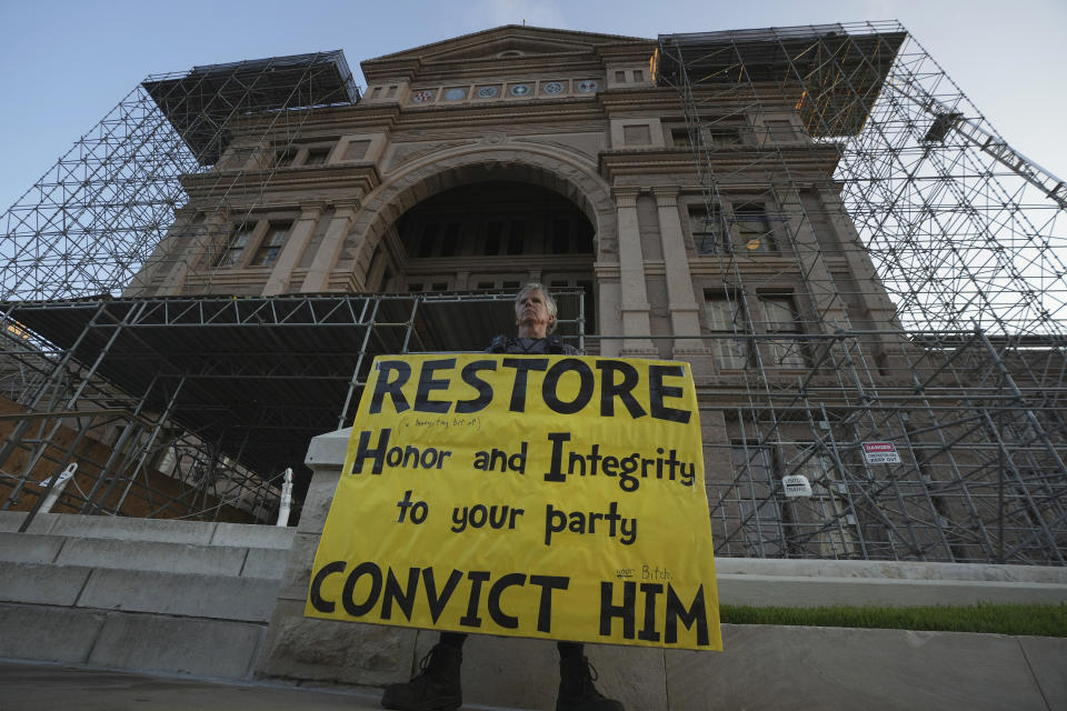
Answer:
<svg viewBox="0 0 1067 711"><path fill-rule="evenodd" d="M596 330L594 264L614 260L615 207L590 166L538 149L428 157L390 176L349 233L357 281L392 292L508 291L528 281L580 289L586 330Z"/></svg>

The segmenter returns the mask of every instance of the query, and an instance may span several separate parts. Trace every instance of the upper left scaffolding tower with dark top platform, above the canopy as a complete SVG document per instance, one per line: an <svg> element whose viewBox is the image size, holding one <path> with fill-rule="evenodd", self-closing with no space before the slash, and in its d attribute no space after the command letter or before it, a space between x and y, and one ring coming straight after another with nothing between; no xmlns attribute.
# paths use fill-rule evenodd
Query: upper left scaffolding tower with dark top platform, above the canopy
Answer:
<svg viewBox="0 0 1067 711"><path fill-rule="evenodd" d="M340 50L149 76L4 213L0 300L136 293L173 269L210 291L218 259L188 259L225 249L210 227L262 202L312 109L358 100ZM235 144L248 123L270 144ZM212 210L186 216L192 194Z"/></svg>

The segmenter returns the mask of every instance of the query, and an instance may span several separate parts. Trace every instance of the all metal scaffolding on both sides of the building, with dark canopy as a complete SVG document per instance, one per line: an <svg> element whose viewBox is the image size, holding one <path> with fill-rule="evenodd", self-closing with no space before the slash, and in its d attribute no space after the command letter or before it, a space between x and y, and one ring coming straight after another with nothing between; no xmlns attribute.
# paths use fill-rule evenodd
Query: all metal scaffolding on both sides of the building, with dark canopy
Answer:
<svg viewBox="0 0 1067 711"><path fill-rule="evenodd" d="M717 284L669 337L717 363L717 553L1065 564L1064 182L896 22L657 48ZM375 354L510 328L505 293L218 296L246 218L315 182L316 122L358 97L339 52L149 77L8 211L0 508L78 461L68 510L269 521ZM576 344L628 336L560 306Z"/></svg>

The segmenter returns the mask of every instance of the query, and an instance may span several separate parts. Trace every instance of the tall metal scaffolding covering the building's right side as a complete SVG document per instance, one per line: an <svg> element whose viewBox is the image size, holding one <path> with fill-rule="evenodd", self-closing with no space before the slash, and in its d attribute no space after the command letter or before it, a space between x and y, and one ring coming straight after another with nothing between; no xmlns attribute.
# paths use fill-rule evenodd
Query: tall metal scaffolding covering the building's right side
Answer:
<svg viewBox="0 0 1067 711"><path fill-rule="evenodd" d="M741 371L702 393L718 553L1064 564L1064 181L896 22L661 36L655 69Z"/></svg>

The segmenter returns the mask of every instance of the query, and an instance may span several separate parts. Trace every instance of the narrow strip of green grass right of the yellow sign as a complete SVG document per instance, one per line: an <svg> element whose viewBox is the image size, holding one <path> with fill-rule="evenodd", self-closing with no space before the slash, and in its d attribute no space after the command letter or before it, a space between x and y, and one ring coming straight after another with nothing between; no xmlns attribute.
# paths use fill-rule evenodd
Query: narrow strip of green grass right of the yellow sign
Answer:
<svg viewBox="0 0 1067 711"><path fill-rule="evenodd" d="M751 608L724 604L719 608L719 613L721 621L729 624L852 627L1067 637L1067 603L918 608L845 605Z"/></svg>

